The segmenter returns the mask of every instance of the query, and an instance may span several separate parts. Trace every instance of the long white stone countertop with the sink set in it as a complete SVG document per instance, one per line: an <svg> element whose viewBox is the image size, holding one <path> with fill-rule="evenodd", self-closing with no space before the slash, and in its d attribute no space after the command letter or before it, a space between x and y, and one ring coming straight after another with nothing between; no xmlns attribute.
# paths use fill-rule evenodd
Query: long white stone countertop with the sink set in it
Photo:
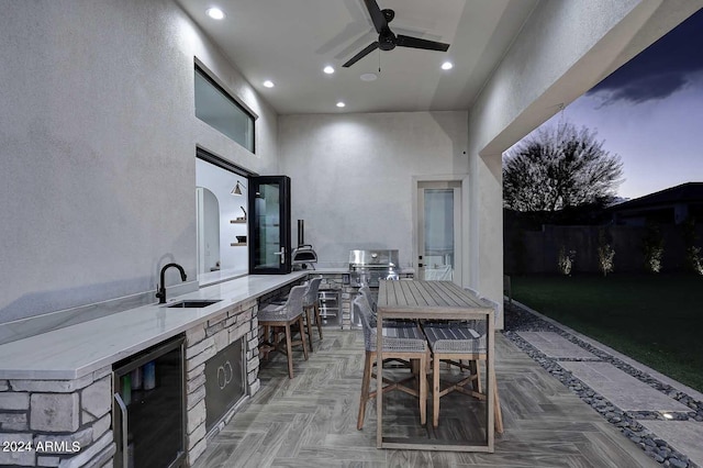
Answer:
<svg viewBox="0 0 703 468"><path fill-rule="evenodd" d="M78 379L192 328L224 309L256 299L311 272L315 270L250 275L168 299L168 303L183 299L221 299L207 308L143 305L0 345L0 379Z"/></svg>

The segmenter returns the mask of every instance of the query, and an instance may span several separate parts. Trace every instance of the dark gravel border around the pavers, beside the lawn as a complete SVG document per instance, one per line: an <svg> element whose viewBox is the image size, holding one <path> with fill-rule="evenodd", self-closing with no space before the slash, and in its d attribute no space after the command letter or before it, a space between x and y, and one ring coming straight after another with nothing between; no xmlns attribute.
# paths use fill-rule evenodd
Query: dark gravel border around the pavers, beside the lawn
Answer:
<svg viewBox="0 0 703 468"><path fill-rule="evenodd" d="M652 457L656 461L665 467L673 468L701 468L695 463L690 461L689 457L674 450L667 444L666 441L659 438L651 431L644 427L637 422L637 420L666 420L659 412L654 411L622 411L603 395L595 392L589 386L583 383L573 375L559 366L558 361L554 358L547 357L544 353L538 350L532 344L523 339L517 332L554 332L569 342L580 346L589 353L595 355L598 359L593 358L571 358L559 360L577 360L577 361L603 361L612 364L624 372L635 377L639 381L647 383L649 387L662 392L669 398L685 404L691 409L689 412L674 412L669 413L676 421L696 421L703 422L703 402L693 399L692 397L681 392L667 383L662 383L659 380L652 378L646 372L635 369L631 365L622 361L621 359L593 347L589 343L580 339L573 334L549 323L539 316L533 314L531 311L521 308L518 304L505 303L504 307L505 326L503 335L510 341L515 343L527 356L533 358L537 364L545 368L549 374L556 377L561 383L568 387L574 392L581 400L590 404L596 412L599 412L607 422L615 425L627 438L637 444L647 455Z"/></svg>

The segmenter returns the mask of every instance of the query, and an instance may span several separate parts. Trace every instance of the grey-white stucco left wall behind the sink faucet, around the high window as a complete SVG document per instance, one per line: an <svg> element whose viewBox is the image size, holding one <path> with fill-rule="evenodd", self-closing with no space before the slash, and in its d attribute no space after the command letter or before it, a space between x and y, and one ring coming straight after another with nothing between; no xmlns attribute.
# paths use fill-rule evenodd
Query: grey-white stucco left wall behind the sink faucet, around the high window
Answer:
<svg viewBox="0 0 703 468"><path fill-rule="evenodd" d="M256 155L194 118L194 57ZM0 322L196 280L196 145L278 171L276 113L171 1L2 2L0 62Z"/></svg>

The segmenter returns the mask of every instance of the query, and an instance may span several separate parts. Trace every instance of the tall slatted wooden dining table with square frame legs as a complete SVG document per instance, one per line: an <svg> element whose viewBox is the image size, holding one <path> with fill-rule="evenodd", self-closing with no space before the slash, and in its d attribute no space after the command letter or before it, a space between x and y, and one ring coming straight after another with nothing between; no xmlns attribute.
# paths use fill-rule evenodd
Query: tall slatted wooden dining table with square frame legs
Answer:
<svg viewBox="0 0 703 468"><path fill-rule="evenodd" d="M382 330L386 319L426 320L486 320L487 326L487 378L486 378L486 441L443 441L431 434L432 425L426 424L426 437L383 437L383 346L382 333L377 333L377 447L420 450L449 452L493 452L494 392L494 323L493 309L479 298L451 281L380 281L377 302L377 330ZM438 371L439 369L434 369ZM421 378L424 376L421 376ZM429 420L429 419L428 419ZM467 424L469 422L467 421Z"/></svg>

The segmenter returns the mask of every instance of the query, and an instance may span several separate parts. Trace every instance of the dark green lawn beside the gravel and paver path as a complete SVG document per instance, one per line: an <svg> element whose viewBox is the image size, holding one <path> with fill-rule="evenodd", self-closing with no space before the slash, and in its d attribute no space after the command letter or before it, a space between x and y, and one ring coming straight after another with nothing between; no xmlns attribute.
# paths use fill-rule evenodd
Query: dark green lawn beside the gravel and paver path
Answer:
<svg viewBox="0 0 703 468"><path fill-rule="evenodd" d="M703 277L515 276L513 298L703 391Z"/></svg>

